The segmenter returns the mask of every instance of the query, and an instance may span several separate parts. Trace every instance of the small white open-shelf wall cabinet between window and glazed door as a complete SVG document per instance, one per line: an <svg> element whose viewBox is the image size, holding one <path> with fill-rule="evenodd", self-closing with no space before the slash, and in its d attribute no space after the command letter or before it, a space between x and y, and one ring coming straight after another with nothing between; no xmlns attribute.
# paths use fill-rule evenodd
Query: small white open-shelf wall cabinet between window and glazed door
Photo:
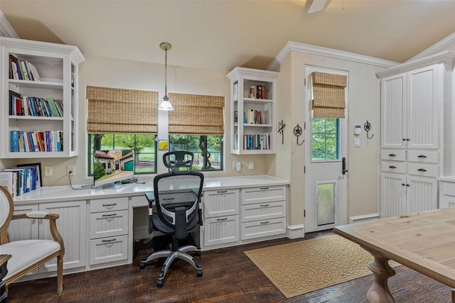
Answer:
<svg viewBox="0 0 455 303"><path fill-rule="evenodd" d="M275 153L278 75L278 72L244 67L235 67L228 74L231 153Z"/></svg>

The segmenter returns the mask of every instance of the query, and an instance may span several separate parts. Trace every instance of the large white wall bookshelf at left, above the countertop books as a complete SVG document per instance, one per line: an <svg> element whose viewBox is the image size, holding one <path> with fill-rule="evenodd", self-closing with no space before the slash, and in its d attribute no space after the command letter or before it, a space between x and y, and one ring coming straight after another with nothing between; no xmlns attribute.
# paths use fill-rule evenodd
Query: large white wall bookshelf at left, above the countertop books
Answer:
<svg viewBox="0 0 455 303"><path fill-rule="evenodd" d="M0 37L1 61L1 158L69 158L77 155L77 75L80 62L85 60L80 50L71 45L43 43L32 40ZM30 62L39 79L12 79L10 55ZM63 101L61 116L33 116L11 113L10 91L21 97L41 97ZM26 109L24 109L26 110ZM62 133L61 151L48 145L45 151L12 151L11 131Z"/></svg>

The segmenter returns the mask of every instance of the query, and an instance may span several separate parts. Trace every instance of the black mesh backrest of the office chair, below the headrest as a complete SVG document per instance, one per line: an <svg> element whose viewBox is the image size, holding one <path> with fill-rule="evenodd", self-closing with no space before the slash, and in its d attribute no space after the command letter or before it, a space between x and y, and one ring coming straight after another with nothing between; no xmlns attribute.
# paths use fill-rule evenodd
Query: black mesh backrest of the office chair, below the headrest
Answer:
<svg viewBox="0 0 455 303"><path fill-rule="evenodd" d="M204 175L192 170L157 175L154 178L154 196L156 212L161 221L176 228L176 213L184 214L184 224L199 216L203 182Z"/></svg>

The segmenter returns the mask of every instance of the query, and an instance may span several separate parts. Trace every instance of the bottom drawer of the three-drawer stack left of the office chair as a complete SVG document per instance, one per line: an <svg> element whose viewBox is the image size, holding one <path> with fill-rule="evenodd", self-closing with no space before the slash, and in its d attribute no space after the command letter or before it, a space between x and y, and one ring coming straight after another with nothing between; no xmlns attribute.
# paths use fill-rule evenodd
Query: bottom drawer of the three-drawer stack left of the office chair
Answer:
<svg viewBox="0 0 455 303"><path fill-rule="evenodd" d="M90 265L128 258L128 236L90 240Z"/></svg>

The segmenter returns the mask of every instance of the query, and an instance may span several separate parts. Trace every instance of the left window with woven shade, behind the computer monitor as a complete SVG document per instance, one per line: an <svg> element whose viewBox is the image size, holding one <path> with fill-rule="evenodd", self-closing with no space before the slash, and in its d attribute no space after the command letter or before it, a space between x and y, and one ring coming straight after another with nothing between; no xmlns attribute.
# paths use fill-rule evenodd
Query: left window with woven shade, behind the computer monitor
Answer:
<svg viewBox="0 0 455 303"><path fill-rule="evenodd" d="M87 87L88 175L95 162L112 173L156 172L158 92Z"/></svg>

